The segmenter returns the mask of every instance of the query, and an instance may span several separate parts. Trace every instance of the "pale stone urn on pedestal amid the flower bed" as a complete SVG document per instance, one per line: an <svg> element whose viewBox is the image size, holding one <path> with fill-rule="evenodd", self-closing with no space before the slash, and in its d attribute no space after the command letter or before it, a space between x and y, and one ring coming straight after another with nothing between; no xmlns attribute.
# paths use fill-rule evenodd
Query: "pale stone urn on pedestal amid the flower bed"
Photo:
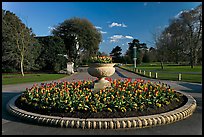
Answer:
<svg viewBox="0 0 204 137"><path fill-rule="evenodd" d="M115 73L114 63L92 63L89 64L88 73L97 77L98 80L94 82L94 92L104 89L105 87L111 87L111 83L105 80L106 77L110 77Z"/></svg>

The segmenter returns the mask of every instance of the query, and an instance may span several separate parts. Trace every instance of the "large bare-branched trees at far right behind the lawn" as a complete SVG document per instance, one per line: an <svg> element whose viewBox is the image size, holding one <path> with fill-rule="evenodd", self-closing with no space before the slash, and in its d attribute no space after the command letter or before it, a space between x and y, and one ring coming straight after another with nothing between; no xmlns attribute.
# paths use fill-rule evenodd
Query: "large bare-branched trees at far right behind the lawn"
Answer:
<svg viewBox="0 0 204 137"><path fill-rule="evenodd" d="M155 44L160 60L188 61L193 68L202 60L202 5L172 19Z"/></svg>

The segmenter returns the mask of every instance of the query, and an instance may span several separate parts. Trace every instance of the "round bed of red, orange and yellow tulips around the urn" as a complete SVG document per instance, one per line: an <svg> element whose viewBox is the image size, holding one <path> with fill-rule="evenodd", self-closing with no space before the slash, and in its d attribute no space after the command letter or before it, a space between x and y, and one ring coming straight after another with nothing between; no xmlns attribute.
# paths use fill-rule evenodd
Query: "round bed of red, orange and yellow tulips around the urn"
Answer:
<svg viewBox="0 0 204 137"><path fill-rule="evenodd" d="M94 81L34 85L16 100L17 107L39 114L89 117L129 117L167 112L187 100L164 83L141 79L112 80L111 87L93 93Z"/></svg>

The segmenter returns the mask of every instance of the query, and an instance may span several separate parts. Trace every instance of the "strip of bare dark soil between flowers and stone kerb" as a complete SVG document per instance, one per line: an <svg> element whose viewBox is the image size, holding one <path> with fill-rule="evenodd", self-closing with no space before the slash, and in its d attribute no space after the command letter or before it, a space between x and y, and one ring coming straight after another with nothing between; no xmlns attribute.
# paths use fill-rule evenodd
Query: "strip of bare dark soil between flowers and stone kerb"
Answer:
<svg viewBox="0 0 204 137"><path fill-rule="evenodd" d="M147 115L155 115L160 113L165 113L168 111L175 110L177 108L182 107L187 102L187 97L182 95L179 98L179 102L176 100L173 100L168 105L163 105L162 107L157 108L147 108L144 111L126 111L126 112L67 112L67 113L60 113L60 112L46 112L42 110L35 110L29 106L21 105L19 103L19 98L16 100L15 105L23 110L43 114L43 115L49 115L49 116L59 116L59 117L73 117L73 118L125 118L125 117L137 117L137 116L147 116Z"/></svg>

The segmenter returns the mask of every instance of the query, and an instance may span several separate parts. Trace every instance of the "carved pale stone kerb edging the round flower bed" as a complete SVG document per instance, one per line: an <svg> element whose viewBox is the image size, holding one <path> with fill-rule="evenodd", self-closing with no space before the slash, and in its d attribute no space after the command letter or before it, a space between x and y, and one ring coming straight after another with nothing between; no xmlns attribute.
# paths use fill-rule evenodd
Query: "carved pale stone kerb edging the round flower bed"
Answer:
<svg viewBox="0 0 204 137"><path fill-rule="evenodd" d="M128 118L71 118L47 116L37 113L31 113L15 106L16 99L20 96L13 97L6 106L9 113L31 123L38 123L48 126L57 126L64 128L82 128L82 129L119 129L119 128L146 128L174 123L188 118L196 109L196 100L181 91L176 91L185 95L188 99L187 103L173 111L166 113L128 117Z"/></svg>

